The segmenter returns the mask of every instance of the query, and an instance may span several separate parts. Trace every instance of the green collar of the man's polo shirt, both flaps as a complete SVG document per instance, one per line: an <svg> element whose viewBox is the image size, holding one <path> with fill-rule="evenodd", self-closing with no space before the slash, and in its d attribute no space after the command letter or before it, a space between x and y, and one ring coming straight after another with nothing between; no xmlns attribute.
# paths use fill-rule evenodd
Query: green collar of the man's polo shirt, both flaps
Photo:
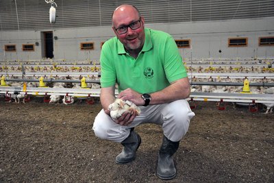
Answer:
<svg viewBox="0 0 274 183"><path fill-rule="evenodd" d="M124 45L120 40L116 37L117 39L117 47L118 47L118 54L125 54L127 51L125 51ZM149 51L153 47L152 45L152 40L151 40L151 32L150 29L145 28L145 44L142 47L141 52Z"/></svg>

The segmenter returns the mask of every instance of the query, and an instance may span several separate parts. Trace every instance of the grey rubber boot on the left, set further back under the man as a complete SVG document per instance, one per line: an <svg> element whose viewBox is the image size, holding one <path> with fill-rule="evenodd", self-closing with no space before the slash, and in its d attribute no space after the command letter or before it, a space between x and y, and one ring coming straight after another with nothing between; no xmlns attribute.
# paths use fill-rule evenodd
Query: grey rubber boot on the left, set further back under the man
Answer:
<svg viewBox="0 0 274 183"><path fill-rule="evenodd" d="M116 156L117 164L125 164L132 162L136 158L136 151L140 146L141 138L134 132L134 128L130 130L130 134L125 140L121 143L123 145L123 150L121 154Z"/></svg>

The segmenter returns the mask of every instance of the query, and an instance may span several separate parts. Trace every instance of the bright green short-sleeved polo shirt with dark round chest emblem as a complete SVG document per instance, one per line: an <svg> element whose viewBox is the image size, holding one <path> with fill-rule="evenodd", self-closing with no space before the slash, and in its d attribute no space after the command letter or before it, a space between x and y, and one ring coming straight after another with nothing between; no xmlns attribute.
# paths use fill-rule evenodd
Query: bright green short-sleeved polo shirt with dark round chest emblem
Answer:
<svg viewBox="0 0 274 183"><path fill-rule="evenodd" d="M103 44L100 62L101 87L118 84L119 92L132 88L138 93L153 93L188 76L173 37L147 28L138 58L130 56L114 37Z"/></svg>

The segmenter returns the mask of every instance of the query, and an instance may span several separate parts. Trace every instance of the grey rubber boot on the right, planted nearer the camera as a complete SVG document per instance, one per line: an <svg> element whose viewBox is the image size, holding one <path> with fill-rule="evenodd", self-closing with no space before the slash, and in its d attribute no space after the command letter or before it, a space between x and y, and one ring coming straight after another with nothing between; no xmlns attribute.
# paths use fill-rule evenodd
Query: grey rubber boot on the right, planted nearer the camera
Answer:
<svg viewBox="0 0 274 183"><path fill-rule="evenodd" d="M173 162L173 154L179 147L179 141L170 141L166 136L163 137L162 147L158 155L157 175L162 180L171 180L176 176L176 168Z"/></svg>

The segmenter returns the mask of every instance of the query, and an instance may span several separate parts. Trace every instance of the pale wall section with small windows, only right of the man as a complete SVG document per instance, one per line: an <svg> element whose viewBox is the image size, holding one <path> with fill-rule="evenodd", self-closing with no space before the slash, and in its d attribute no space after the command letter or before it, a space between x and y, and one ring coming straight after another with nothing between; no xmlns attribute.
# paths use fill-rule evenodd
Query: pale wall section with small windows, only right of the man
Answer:
<svg viewBox="0 0 274 183"><path fill-rule="evenodd" d="M273 57L274 47L259 47L259 37L274 36L274 19L192 22L149 25L169 32L175 39L190 39L194 58ZM247 47L228 47L228 38L248 38ZM221 49L221 53L219 50ZM190 58L190 49L180 49Z"/></svg>

